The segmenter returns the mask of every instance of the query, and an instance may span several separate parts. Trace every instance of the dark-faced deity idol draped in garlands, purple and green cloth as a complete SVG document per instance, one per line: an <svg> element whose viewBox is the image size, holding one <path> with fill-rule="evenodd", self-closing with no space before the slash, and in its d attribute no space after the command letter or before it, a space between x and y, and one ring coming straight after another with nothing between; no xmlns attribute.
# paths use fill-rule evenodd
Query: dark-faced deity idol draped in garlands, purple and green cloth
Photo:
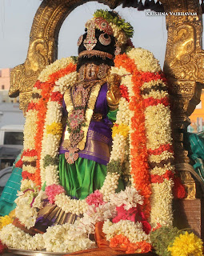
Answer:
<svg viewBox="0 0 204 256"><path fill-rule="evenodd" d="M107 246L127 239L122 250L148 252L150 230L172 225L166 79L132 35L118 14L98 10L78 58L42 70L26 114L17 218L0 232L7 246L70 253L100 247L104 234Z"/></svg>

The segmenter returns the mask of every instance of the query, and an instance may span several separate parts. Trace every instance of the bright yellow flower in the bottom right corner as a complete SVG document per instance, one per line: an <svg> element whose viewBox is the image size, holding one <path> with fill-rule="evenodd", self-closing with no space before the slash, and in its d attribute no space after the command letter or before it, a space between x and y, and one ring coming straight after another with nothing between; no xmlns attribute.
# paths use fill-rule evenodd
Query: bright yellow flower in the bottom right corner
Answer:
<svg viewBox="0 0 204 256"><path fill-rule="evenodd" d="M202 256L203 242L194 233L180 234L173 244L168 246L172 256Z"/></svg>

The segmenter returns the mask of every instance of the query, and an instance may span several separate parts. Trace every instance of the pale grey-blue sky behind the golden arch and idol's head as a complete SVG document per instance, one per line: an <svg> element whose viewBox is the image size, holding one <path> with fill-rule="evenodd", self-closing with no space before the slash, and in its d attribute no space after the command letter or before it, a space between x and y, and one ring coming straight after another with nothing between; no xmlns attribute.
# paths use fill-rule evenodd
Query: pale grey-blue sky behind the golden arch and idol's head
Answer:
<svg viewBox="0 0 204 256"><path fill-rule="evenodd" d="M39 0L0 0L0 69L25 62L30 28ZM85 22L97 9L109 9L98 2L78 6L66 18L58 38L58 58L77 55L78 37L84 33ZM154 53L161 66L166 51L166 18L146 16L146 11L134 8L116 9L122 18L134 26L134 46Z"/></svg>

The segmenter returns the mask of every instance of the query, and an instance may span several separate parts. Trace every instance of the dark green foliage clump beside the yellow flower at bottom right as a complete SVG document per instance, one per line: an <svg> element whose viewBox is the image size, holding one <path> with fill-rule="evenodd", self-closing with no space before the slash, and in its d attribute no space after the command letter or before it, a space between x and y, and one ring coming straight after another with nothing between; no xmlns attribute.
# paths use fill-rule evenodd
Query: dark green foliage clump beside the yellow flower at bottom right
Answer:
<svg viewBox="0 0 204 256"><path fill-rule="evenodd" d="M170 251L167 250L170 243L174 242L176 236L178 236L177 227L162 226L158 230L154 230L150 234L150 240L159 256L170 256Z"/></svg>

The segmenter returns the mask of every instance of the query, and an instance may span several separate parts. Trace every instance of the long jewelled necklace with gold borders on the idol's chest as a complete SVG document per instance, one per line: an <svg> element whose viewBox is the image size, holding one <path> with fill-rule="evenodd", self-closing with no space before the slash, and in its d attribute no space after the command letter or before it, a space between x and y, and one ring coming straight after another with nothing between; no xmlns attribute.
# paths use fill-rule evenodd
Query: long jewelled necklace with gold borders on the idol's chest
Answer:
<svg viewBox="0 0 204 256"><path fill-rule="evenodd" d="M81 82L65 92L68 118L63 146L69 150L65 153L66 162L69 164L78 159L78 150L83 150L85 147L90 119L103 83L104 81L94 82L94 85L87 86L87 83Z"/></svg>

